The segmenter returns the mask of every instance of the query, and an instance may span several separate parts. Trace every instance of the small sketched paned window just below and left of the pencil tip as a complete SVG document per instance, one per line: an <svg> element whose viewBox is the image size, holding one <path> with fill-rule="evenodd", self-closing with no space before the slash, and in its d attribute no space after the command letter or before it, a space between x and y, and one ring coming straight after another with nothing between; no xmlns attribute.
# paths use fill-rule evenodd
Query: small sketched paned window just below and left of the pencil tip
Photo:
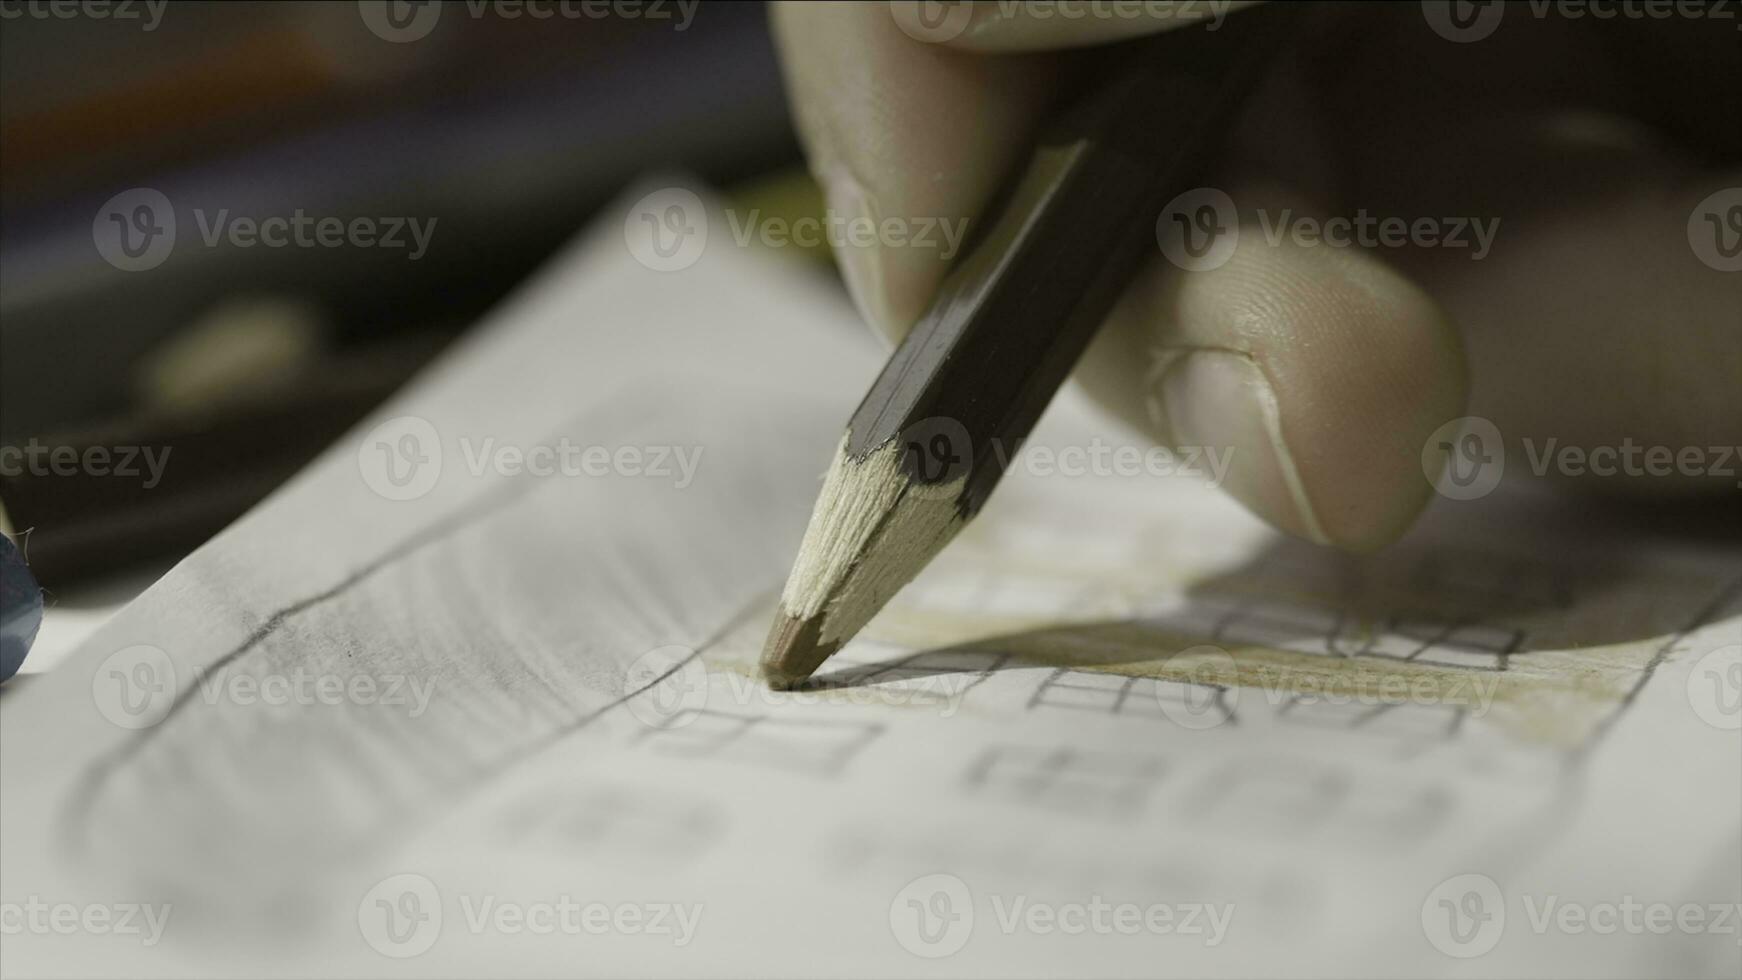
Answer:
<svg viewBox="0 0 1742 980"><path fill-rule="evenodd" d="M880 735L883 726L876 722L686 708L641 733L636 743L683 759L726 759L838 776Z"/></svg>

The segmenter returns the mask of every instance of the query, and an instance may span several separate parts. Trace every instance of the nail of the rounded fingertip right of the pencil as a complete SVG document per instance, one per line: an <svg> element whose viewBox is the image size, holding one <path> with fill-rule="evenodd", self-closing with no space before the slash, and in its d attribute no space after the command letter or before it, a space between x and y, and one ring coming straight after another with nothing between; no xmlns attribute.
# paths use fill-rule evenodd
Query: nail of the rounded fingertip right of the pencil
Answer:
<svg viewBox="0 0 1742 980"><path fill-rule="evenodd" d="M1151 374L1150 411L1176 447L1226 454L1223 489L1286 531L1331 543L1282 437L1277 393L1251 357L1167 352Z"/></svg>

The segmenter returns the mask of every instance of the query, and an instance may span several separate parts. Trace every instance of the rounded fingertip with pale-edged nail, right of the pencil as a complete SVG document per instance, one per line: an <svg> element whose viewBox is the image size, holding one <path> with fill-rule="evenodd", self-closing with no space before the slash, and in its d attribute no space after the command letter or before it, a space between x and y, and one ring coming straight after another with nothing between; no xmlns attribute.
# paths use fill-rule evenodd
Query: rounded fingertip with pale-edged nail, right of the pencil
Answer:
<svg viewBox="0 0 1742 980"><path fill-rule="evenodd" d="M1151 261L1078 378L1158 442L1225 460L1223 489L1256 515L1352 550L1415 520L1432 494L1421 446L1467 397L1458 332L1415 284L1256 223L1212 266Z"/></svg>

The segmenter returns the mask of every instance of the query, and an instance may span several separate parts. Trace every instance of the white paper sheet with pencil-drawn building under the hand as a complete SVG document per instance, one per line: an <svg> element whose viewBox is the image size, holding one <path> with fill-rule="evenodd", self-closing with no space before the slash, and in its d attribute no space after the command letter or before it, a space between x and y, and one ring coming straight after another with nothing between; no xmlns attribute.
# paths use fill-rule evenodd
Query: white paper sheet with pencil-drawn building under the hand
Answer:
<svg viewBox="0 0 1742 980"><path fill-rule="evenodd" d="M1061 473L1134 446L1068 395L770 693L881 353L620 218L7 693L5 975L1742 970L1733 548L1441 501L1338 557Z"/></svg>

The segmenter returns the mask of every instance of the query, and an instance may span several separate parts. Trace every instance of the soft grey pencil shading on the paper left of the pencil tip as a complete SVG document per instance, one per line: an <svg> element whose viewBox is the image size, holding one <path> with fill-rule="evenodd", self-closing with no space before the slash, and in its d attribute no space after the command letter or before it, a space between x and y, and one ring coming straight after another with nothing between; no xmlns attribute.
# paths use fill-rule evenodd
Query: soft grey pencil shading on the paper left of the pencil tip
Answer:
<svg viewBox="0 0 1742 980"><path fill-rule="evenodd" d="M610 432L646 446L707 446L733 463L709 472L706 494L526 470L490 479L465 508L418 522L362 571L261 611L242 642L214 649L211 667L183 684L185 710L92 755L57 801L63 853L91 865L131 862L174 900L197 895L183 856L199 853L233 869L249 896L213 907L207 924L265 923L294 883L260 860L261 839L298 855L300 879L341 876L357 853L432 829L517 766L570 750L578 733L611 729L631 700L671 684L634 677L636 654L681 641L693 661L766 611L763 587L784 564L779 534L739 540L712 527L766 527L770 508L801 507L803 489L768 486L787 480L749 451L784 433L784 423L737 428L775 399L721 397L742 413L685 413L672 390L718 392L648 383L571 414L566 432L540 444ZM202 559L183 580L199 576L221 597L223 616L249 625L258 597L228 588L223 573L223 562ZM326 675L408 677L430 696L406 710L381 700L310 707L225 695L230 681Z"/></svg>

